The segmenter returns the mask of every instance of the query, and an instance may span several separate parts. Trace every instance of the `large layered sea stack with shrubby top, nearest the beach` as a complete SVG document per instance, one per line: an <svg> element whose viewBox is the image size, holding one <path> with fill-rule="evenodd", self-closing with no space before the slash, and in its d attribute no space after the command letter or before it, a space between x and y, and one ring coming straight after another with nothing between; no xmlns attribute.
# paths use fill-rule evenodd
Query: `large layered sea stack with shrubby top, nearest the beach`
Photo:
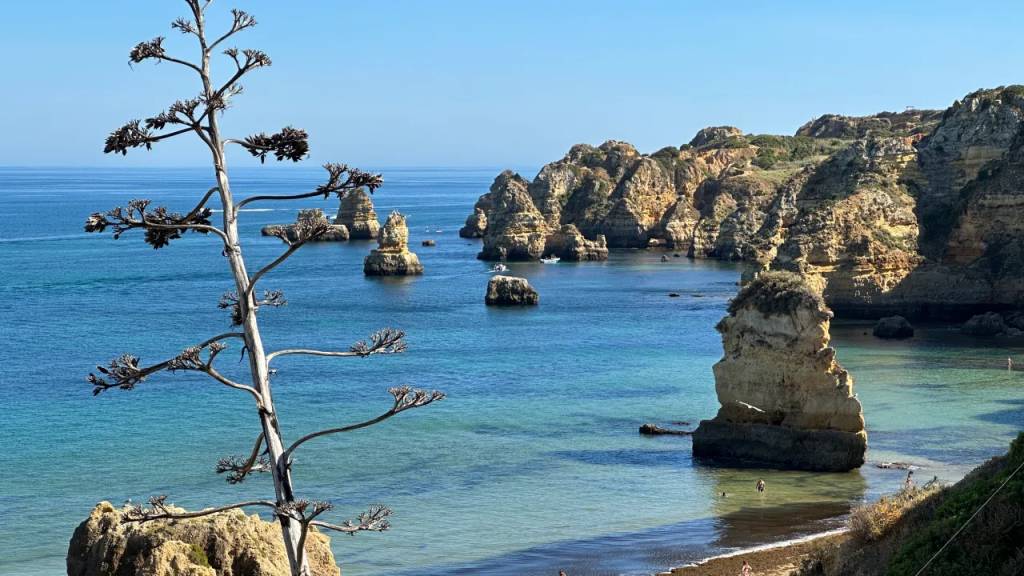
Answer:
<svg viewBox="0 0 1024 576"><path fill-rule="evenodd" d="M717 326L722 406L693 434L695 458L817 471L864 463L864 417L828 345L831 316L793 273L764 273L739 291Z"/></svg>

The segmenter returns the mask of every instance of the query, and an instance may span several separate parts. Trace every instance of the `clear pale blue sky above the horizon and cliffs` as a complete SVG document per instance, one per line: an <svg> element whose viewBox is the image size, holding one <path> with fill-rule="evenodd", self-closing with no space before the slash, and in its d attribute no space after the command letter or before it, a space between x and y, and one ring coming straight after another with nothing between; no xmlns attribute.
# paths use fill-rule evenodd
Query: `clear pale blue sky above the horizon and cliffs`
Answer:
<svg viewBox="0 0 1024 576"><path fill-rule="evenodd" d="M273 66L245 82L226 127L305 128L316 163L540 165L580 141L652 152L707 125L792 133L823 113L944 108L1024 83L1019 0L216 0L212 24L231 7L259 20L239 47ZM158 35L193 54L169 28L186 12L4 2L0 165L205 164L193 141L102 154L111 129L198 92L185 69L128 66Z"/></svg>

